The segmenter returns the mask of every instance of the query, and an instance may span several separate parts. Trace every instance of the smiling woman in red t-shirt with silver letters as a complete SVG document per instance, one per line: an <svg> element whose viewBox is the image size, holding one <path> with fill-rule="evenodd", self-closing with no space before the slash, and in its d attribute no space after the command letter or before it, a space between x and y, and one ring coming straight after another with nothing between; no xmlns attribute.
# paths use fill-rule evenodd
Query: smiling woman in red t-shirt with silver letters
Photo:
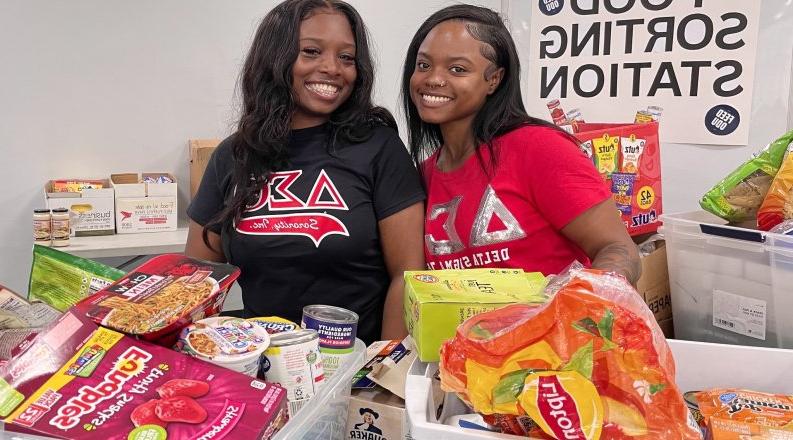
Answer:
<svg viewBox="0 0 793 440"><path fill-rule="evenodd" d="M526 113L498 14L456 5L428 18L402 94L428 194L429 268L554 274L578 260L637 281L637 248L594 165L572 136Z"/></svg>

